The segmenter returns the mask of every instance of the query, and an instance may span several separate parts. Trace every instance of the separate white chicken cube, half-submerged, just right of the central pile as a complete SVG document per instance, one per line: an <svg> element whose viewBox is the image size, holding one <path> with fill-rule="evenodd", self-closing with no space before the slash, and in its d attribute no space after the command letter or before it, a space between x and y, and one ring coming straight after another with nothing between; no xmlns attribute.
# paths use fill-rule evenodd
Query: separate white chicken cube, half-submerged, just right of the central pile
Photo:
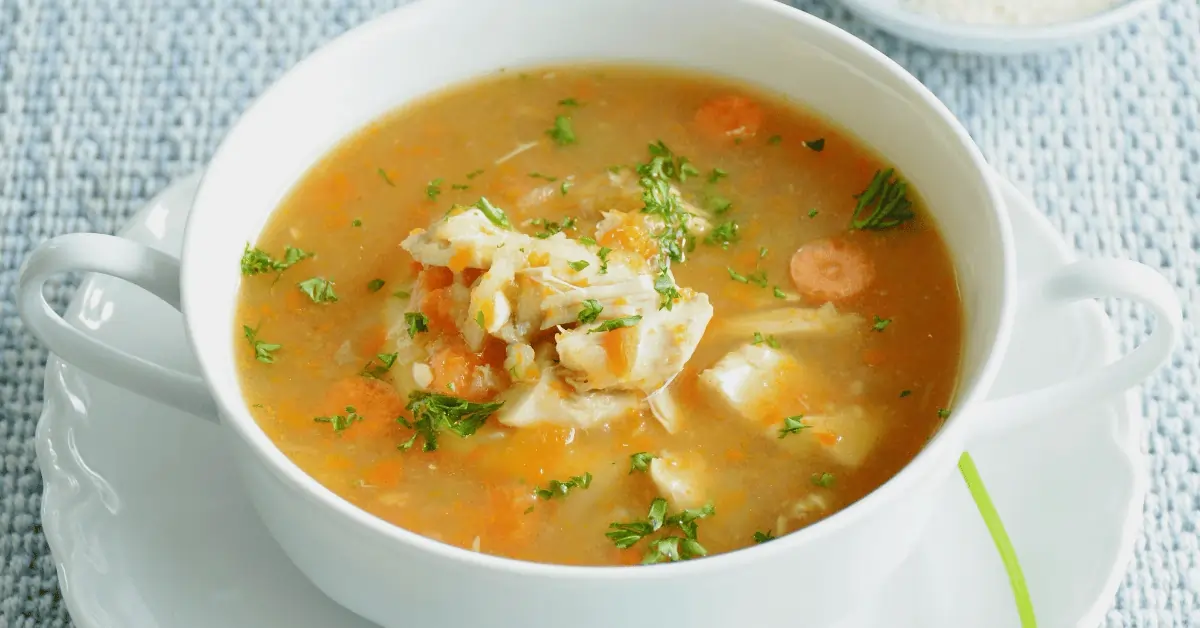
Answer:
<svg viewBox="0 0 1200 628"><path fill-rule="evenodd" d="M799 364L791 355L766 345L748 343L702 371L700 381L744 419L761 423L775 411L791 409L778 407L779 395L787 390L788 383L796 384L798 371Z"/></svg>

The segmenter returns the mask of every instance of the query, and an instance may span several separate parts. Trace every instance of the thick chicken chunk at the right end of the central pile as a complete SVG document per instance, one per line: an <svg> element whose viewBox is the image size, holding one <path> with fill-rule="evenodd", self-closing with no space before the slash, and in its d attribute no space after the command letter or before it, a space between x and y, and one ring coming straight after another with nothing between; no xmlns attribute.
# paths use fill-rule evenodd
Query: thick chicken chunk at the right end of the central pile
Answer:
<svg viewBox="0 0 1200 628"><path fill-rule="evenodd" d="M599 325L587 324L559 333L558 359L578 390L653 393L683 370L712 318L708 295L696 293L671 310L644 311L631 327L596 333Z"/></svg>

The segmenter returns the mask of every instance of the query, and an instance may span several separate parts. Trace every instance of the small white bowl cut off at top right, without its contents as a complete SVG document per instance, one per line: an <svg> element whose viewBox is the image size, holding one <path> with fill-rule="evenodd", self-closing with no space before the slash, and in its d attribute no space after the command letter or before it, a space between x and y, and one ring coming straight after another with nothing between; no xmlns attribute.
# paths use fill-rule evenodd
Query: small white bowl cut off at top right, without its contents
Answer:
<svg viewBox="0 0 1200 628"><path fill-rule="evenodd" d="M1092 16L1054 24L970 24L905 8L901 0L842 0L854 14L931 48L979 54L1025 54L1084 42L1158 7L1159 0L1127 0Z"/></svg>

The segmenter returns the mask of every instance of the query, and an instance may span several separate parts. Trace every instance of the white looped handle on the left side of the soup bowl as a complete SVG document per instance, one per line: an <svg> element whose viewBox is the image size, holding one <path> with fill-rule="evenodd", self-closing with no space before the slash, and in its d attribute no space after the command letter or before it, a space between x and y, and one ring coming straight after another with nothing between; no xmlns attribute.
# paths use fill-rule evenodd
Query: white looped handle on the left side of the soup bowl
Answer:
<svg viewBox="0 0 1200 628"><path fill-rule="evenodd" d="M34 335L64 360L112 384L217 421L216 403L202 378L104 345L50 307L42 286L68 270L124 279L179 310L179 259L113 235L60 235L38 246L22 265L17 310Z"/></svg>

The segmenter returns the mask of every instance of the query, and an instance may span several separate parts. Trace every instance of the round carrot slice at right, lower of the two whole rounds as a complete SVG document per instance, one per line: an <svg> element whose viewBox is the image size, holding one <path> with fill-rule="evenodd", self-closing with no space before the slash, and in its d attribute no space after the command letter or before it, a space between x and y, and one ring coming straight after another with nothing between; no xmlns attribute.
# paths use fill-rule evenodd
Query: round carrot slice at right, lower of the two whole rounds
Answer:
<svg viewBox="0 0 1200 628"><path fill-rule="evenodd" d="M817 240L792 256L792 283L817 301L853 297L875 280L875 265L858 246L845 240Z"/></svg>

